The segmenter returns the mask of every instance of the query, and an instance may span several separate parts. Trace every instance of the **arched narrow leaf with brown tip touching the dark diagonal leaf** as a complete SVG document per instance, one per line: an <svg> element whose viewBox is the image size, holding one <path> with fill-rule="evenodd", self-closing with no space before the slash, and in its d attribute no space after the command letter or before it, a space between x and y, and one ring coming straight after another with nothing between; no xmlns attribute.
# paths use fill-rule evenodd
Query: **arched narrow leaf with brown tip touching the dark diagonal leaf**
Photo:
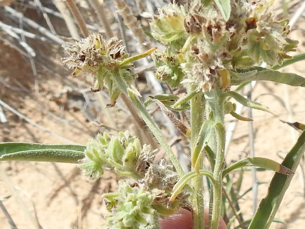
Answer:
<svg viewBox="0 0 305 229"><path fill-rule="evenodd" d="M277 173L282 173L285 175L293 174L293 172L286 168L285 166L279 164L268 158L244 158L238 162L235 162L233 165L229 166L228 168L224 169L223 177L230 173L234 169L239 169L245 166L257 166L264 169L270 169Z"/></svg>

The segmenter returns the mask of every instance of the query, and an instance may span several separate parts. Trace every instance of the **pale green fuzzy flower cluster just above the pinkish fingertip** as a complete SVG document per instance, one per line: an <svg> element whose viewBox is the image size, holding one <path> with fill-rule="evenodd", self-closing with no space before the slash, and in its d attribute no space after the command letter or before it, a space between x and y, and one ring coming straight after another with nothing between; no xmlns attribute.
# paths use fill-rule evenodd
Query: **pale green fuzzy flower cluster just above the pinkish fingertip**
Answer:
<svg viewBox="0 0 305 229"><path fill-rule="evenodd" d="M145 228L154 218L175 213L181 206L188 206L188 192L182 192L167 208L174 185L179 180L173 166L164 159L155 162L156 150L150 145L142 147L137 137L120 132L109 136L106 132L90 139L79 168L89 179L103 175L103 168L114 169L118 175L131 178L119 182L114 193L104 194L110 215L106 225L117 228Z"/></svg>

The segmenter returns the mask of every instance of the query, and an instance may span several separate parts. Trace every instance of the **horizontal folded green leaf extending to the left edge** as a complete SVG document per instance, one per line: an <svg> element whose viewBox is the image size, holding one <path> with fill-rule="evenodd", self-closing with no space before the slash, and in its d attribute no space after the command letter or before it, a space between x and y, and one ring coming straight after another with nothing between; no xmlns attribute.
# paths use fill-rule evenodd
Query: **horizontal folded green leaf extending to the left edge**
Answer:
<svg viewBox="0 0 305 229"><path fill-rule="evenodd" d="M77 163L84 158L84 146L37 143L0 143L0 161L38 161Z"/></svg>

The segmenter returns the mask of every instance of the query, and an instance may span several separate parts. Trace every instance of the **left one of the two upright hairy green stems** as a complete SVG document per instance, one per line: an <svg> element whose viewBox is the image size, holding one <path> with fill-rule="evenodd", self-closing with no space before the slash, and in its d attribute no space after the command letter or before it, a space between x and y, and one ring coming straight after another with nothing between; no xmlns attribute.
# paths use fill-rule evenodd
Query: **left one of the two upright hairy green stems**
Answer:
<svg viewBox="0 0 305 229"><path fill-rule="evenodd" d="M190 90L192 91L192 89ZM204 102L203 93L198 93L191 99L191 149L192 155L197 144L198 134L203 123ZM199 168L202 169L202 158L200 159ZM192 165L192 170L195 165ZM192 179L192 187L194 192L191 194L193 228L204 229L204 205L203 205L203 177L197 176Z"/></svg>

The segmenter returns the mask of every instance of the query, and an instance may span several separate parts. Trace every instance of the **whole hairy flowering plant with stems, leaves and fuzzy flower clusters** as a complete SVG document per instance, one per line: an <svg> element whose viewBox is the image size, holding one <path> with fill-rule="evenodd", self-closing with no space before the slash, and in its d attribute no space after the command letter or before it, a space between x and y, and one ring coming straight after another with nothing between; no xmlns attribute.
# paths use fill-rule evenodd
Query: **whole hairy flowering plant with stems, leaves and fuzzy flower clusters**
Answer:
<svg viewBox="0 0 305 229"><path fill-rule="evenodd" d="M106 86L109 106L115 106L120 95L126 96L163 147L171 164L155 161L158 149L143 144L137 136L120 132L116 136L98 134L83 146L45 146L3 143L0 160L46 160L78 163L89 179L102 177L105 168L126 178L114 193L104 194L109 215L105 225L112 229L159 228L159 219L191 209L193 228L217 229L223 208L223 179L244 166L274 170L271 186L249 229L267 229L305 150L305 133L287 154L282 164L267 158L244 158L228 165L224 161L225 115L252 121L235 113L236 103L274 114L263 104L251 101L234 90L246 83L267 80L305 87L305 78L276 71L272 67L292 59L297 41L289 38L287 20L274 19L273 1L203 1L194 0L188 8L176 3L159 9L151 23L151 35L165 46L164 51L150 49L136 56L125 53L118 38L105 40L99 34L79 42L67 43L63 63L74 69L74 75L89 74L94 78L92 92ZM137 75L132 62L152 54L155 76L172 89L184 87L186 93L150 96L143 103L133 85ZM262 63L267 68L258 67ZM146 107L156 103L189 141L191 171L185 173ZM189 112L184 124L174 111ZM190 126L190 128L187 127ZM14 148L15 147L15 148ZM33 151L42 152L33 154ZM3 153L4 152L4 153ZM68 156L67 156L67 153ZM69 156L70 155L70 156ZM210 167L203 165L208 158ZM210 220L204 222L203 176L211 184ZM274 201L276 200L276 201ZM268 205L265 209L264 206Z"/></svg>

